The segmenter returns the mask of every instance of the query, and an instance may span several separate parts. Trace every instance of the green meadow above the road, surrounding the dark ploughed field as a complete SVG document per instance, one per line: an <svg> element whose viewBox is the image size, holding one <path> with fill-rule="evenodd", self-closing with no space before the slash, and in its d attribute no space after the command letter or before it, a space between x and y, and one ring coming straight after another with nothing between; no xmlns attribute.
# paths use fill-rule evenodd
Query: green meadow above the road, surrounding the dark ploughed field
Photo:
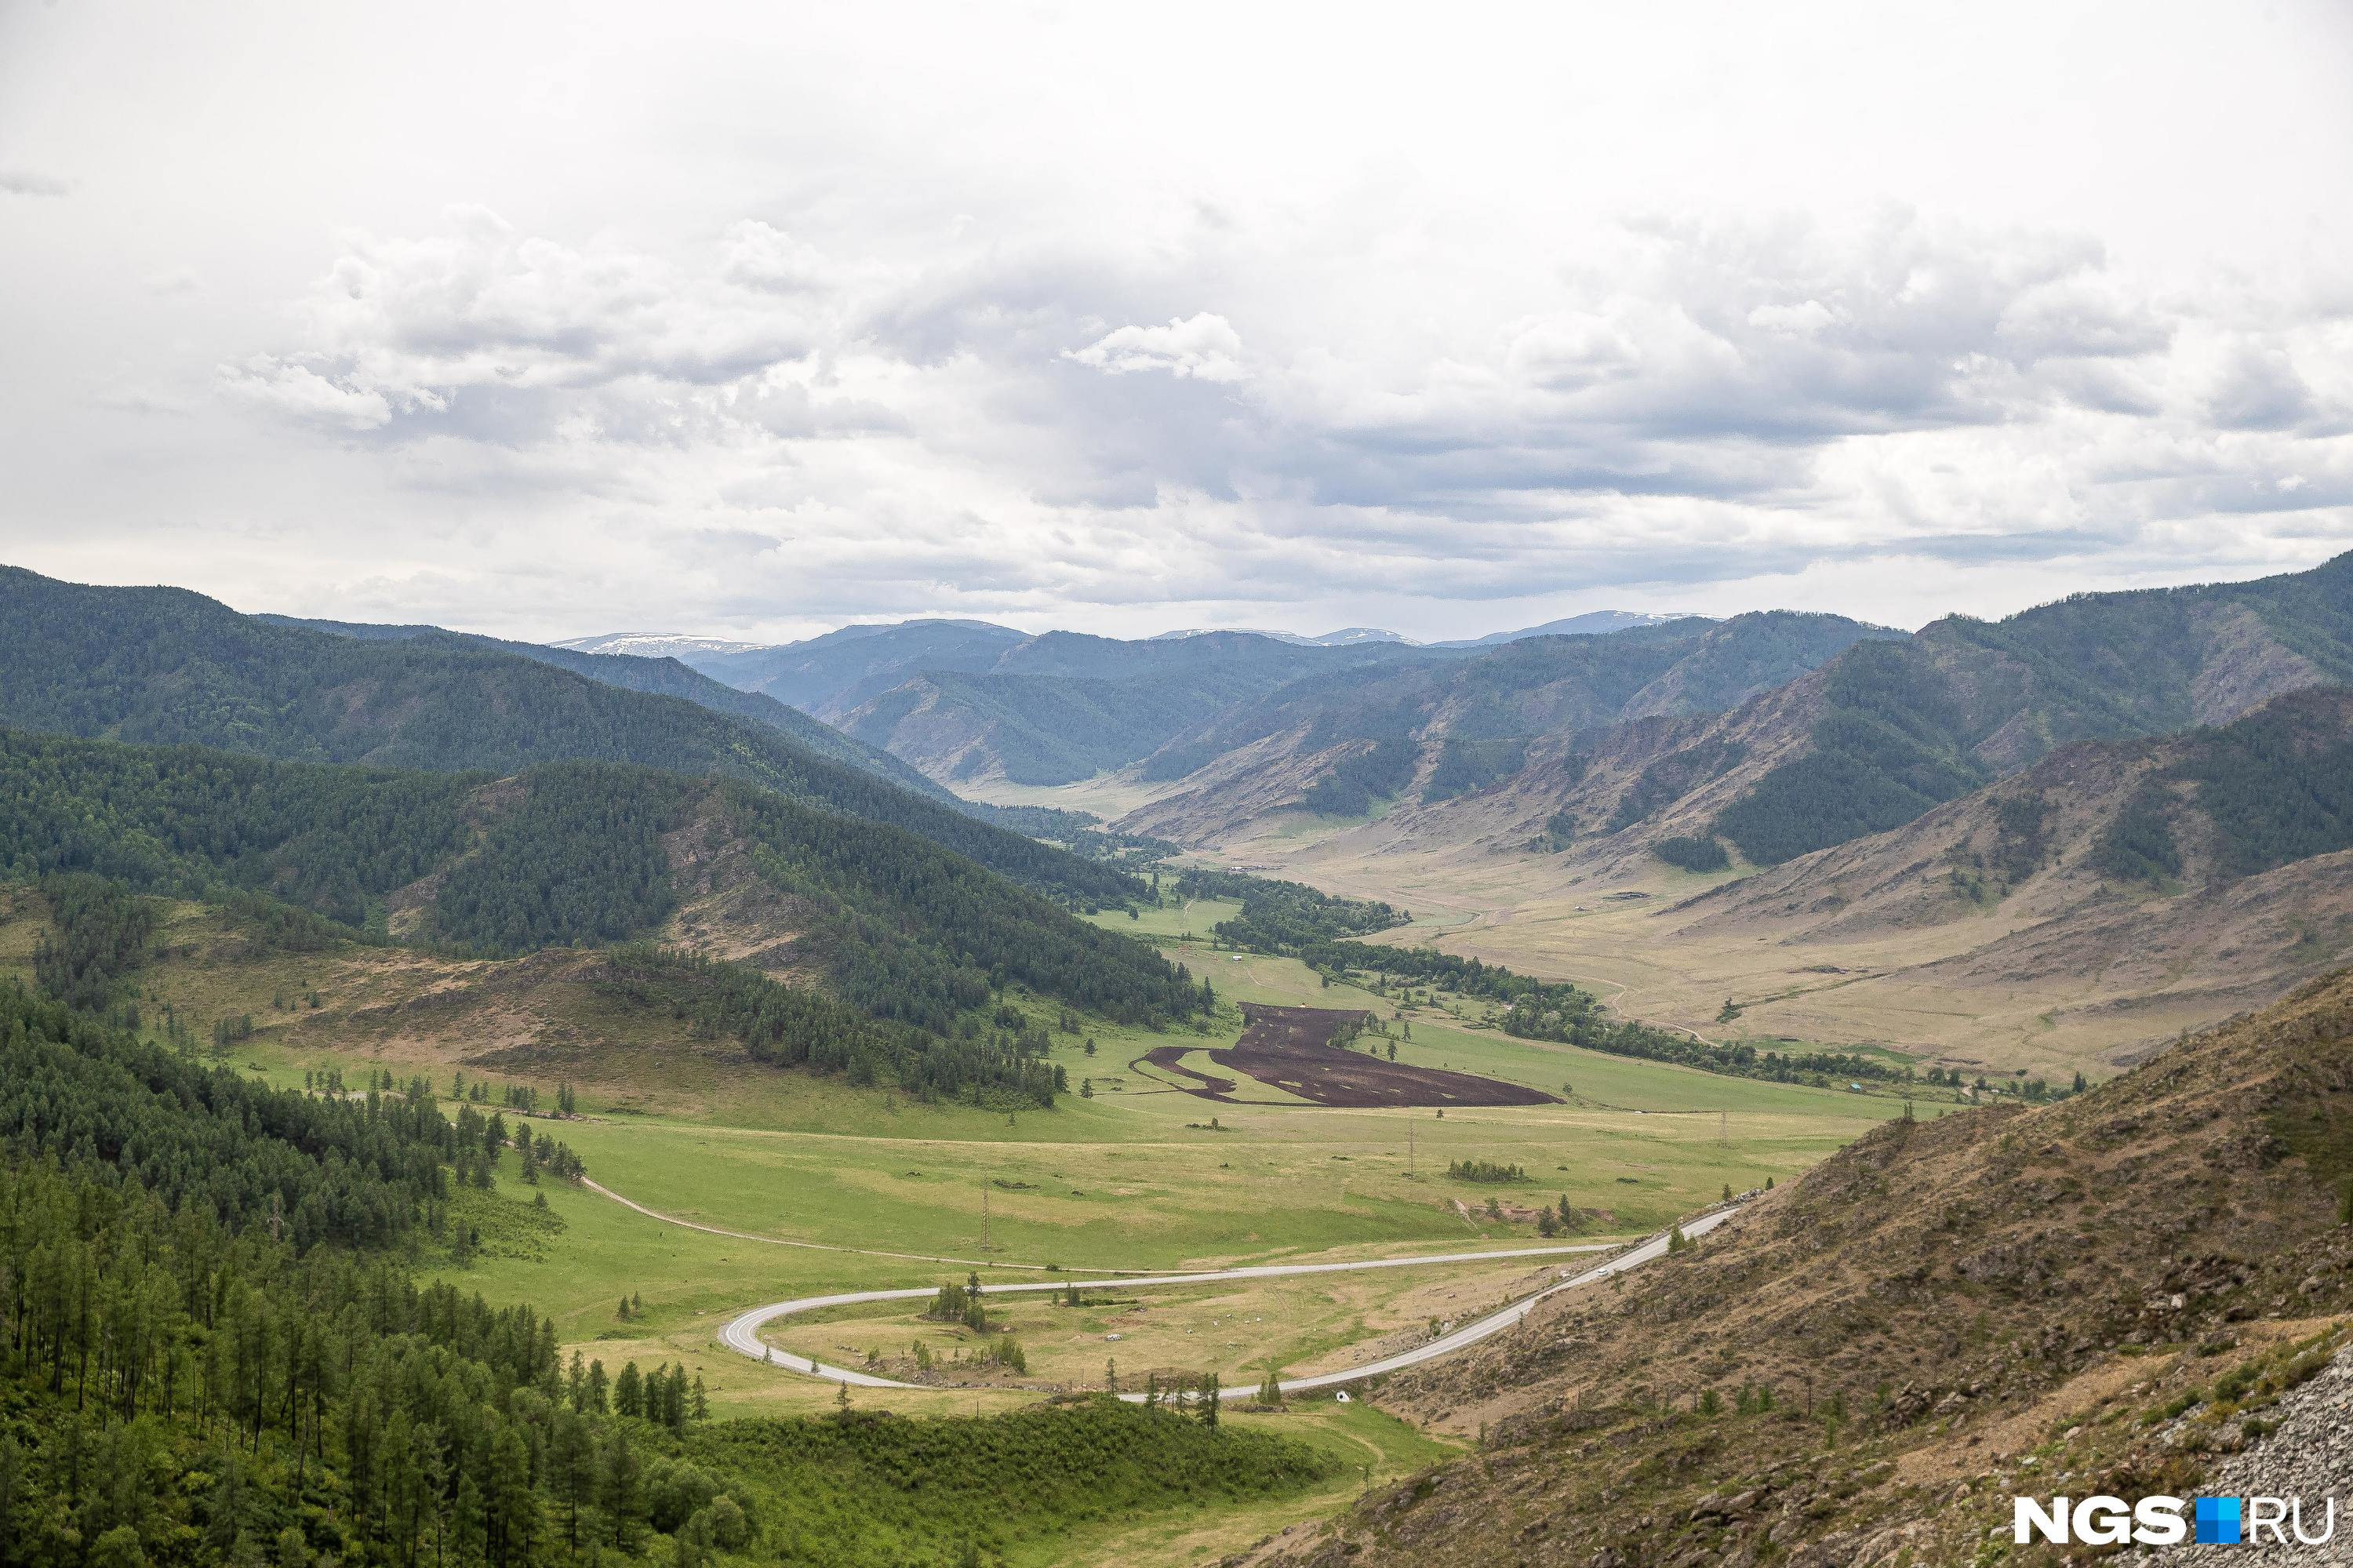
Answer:
<svg viewBox="0 0 2353 1568"><path fill-rule="evenodd" d="M0 963L21 965L38 918L21 902L12 911L14 918L0 916ZM1146 918L1181 932L1221 913L1195 906ZM1106 916L1113 921L1120 916ZM551 1090L558 1074L574 1076L572 1062L558 1059L558 1071L501 1071L513 1045L499 1024L513 1022L515 996L529 996L584 1045L574 1081L586 1118L565 1123L562 1137L600 1182L685 1220L821 1245L1073 1269L1184 1269L1529 1238L1525 1224L1459 1212L1457 1198L1475 1208L1487 1194L1442 1177L1454 1158L1525 1165L1537 1177L1532 1196L1567 1196L1579 1208L1607 1210L1619 1231L1642 1231L1715 1198L1725 1184L1791 1175L1894 1111L1885 1099L1847 1092L1513 1041L1442 1005L1325 986L1285 958L1233 963L1200 942L1169 942L1169 951L1209 975L1224 998L1217 1024L1195 1036L1205 1043L1233 1038L1238 1001L1367 1005L1405 1015L1395 1022L1412 1038L1398 1041L1400 1059L1553 1092L1567 1085L1569 1099L1445 1116L1228 1107L1127 1071L1132 1057L1184 1043L1184 1034L1082 1022L1075 1034L1054 1036L1054 1059L1073 1085L1092 1081L1094 1095L1073 1092L1052 1111L1000 1114L751 1064L725 1043L685 1038L668 1017L628 1015L593 986L565 979L565 956L551 956L548 975L532 977L534 961L449 965L398 949L240 954L238 935L195 906L174 909L165 942L167 956L141 975L151 1024L162 1003L200 1029L231 1010L252 1010L256 1036L235 1048L235 1062L278 1083L301 1083L306 1071L341 1069L355 1078L391 1067L402 1078L424 1071L435 1085L464 1071ZM318 1008L306 1001L313 991ZM273 1008L275 996L292 1005ZM435 1015L442 1008L412 1003L459 996L475 1005L452 1001L445 1010L456 1022L445 1029L369 1026L374 1010ZM579 1217L567 1220L581 1231ZM807 1253L765 1257L758 1274L776 1288L845 1271L854 1278L842 1283L866 1283L864 1267L847 1255ZM485 1269L496 1274L501 1264ZM546 1304L558 1314L614 1295L605 1283L593 1293L581 1285L574 1307L567 1271L534 1274L544 1274ZM588 1274L652 1288L680 1307L701 1309L706 1295L692 1278L654 1281L647 1269L600 1264ZM904 1267L892 1278L904 1278ZM736 1295L739 1283L725 1274L713 1290L727 1290L736 1304L769 1288Z"/></svg>

